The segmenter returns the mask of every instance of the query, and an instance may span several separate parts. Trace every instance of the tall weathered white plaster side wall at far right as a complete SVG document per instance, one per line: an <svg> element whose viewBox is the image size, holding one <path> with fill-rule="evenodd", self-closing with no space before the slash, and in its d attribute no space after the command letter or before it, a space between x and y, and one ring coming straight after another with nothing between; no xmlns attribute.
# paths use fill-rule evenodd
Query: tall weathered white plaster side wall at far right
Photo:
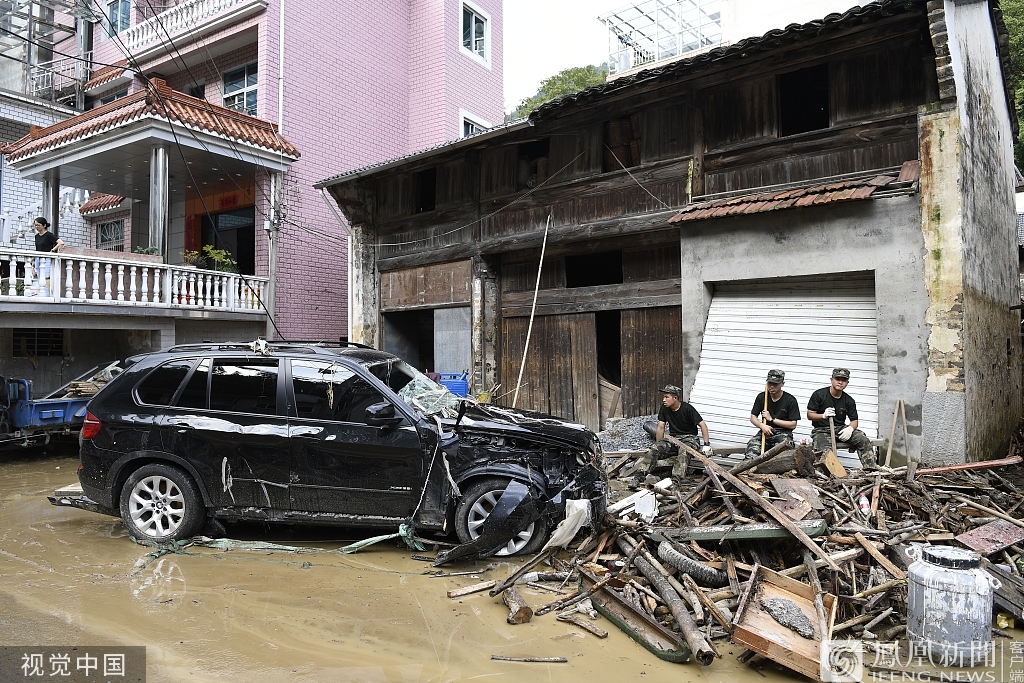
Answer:
<svg viewBox="0 0 1024 683"><path fill-rule="evenodd" d="M987 2L946 0L964 241L967 458L1005 454L1021 417L1013 130Z"/></svg>

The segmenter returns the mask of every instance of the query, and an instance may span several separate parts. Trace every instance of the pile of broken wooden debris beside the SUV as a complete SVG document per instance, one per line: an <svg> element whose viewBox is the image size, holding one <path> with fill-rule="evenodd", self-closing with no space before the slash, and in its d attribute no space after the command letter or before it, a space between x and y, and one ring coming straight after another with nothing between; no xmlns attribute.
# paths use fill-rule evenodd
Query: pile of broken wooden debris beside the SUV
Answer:
<svg viewBox="0 0 1024 683"><path fill-rule="evenodd" d="M643 432L643 421L612 423L611 438ZM905 637L907 568L926 545L977 552L1001 582L1001 623L1024 617L1024 484L1010 469L1021 462L1013 446L999 461L910 472L847 472L835 455L793 443L731 467L687 451L686 480L618 485L628 495L571 559L542 552L490 595L548 561L558 573L547 575L567 579L530 583L563 591L532 617L556 611L586 628L596 610L655 655L702 666L731 639L748 648L748 666L774 659L816 680L822 641L856 638L869 649ZM579 590L565 593L577 577ZM528 609L519 593L504 599L510 623Z"/></svg>

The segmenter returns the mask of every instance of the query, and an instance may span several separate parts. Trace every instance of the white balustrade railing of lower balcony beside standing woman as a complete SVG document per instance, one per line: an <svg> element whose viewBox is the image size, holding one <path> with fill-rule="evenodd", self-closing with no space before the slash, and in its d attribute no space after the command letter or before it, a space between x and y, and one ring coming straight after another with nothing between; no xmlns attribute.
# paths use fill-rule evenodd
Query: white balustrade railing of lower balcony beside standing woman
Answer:
<svg viewBox="0 0 1024 683"><path fill-rule="evenodd" d="M0 301L259 312L266 287L191 266L0 248Z"/></svg>

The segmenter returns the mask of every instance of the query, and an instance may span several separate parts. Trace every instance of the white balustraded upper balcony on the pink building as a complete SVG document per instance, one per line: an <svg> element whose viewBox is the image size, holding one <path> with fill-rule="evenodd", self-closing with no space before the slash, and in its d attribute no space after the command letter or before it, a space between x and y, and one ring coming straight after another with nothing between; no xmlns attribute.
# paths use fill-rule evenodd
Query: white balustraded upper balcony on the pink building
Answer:
<svg viewBox="0 0 1024 683"><path fill-rule="evenodd" d="M264 9L266 0L186 0L119 35L129 53L143 61L167 51L168 36L180 49Z"/></svg>

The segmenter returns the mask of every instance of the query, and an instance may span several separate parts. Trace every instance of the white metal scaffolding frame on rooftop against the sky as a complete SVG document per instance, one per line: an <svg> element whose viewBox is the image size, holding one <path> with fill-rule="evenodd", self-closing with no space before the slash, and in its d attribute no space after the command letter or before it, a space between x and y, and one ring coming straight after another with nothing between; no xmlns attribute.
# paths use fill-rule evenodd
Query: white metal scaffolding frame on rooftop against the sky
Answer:
<svg viewBox="0 0 1024 683"><path fill-rule="evenodd" d="M722 0L645 0L599 16L614 76L722 42Z"/></svg>

